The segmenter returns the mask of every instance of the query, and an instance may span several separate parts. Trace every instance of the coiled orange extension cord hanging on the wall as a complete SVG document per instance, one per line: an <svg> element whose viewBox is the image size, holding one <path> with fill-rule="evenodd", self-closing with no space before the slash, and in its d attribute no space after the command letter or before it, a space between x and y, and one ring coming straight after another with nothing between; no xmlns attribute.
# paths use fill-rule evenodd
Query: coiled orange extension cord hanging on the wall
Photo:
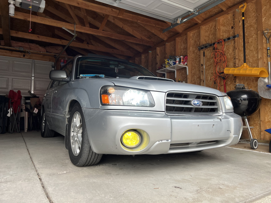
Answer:
<svg viewBox="0 0 271 203"><path fill-rule="evenodd" d="M218 47L220 47L220 49ZM222 39L219 39L217 43L215 43L212 57L214 59L214 76L211 77L211 80L213 84L217 84L218 90L220 90L220 86L224 85L224 92L226 92L225 83L228 75L224 74L224 68L227 66L227 57L224 53L224 41ZM221 79L223 79L222 85L220 85Z"/></svg>

